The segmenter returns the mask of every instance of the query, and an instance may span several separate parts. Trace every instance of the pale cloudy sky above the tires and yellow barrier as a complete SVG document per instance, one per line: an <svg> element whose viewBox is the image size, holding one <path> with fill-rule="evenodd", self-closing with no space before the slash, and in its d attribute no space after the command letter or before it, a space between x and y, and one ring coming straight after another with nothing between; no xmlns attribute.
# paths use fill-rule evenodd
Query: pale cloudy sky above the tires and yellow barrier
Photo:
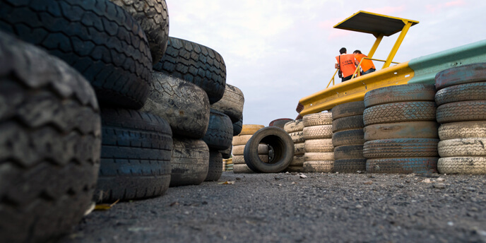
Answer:
<svg viewBox="0 0 486 243"><path fill-rule="evenodd" d="M486 39L486 1L166 2L171 37L211 47L225 59L226 82L244 93L244 124L295 119L298 101L326 88L341 47L367 54L373 35L333 28L357 11L420 21L405 36L397 62ZM397 37L384 37L374 58L386 59Z"/></svg>

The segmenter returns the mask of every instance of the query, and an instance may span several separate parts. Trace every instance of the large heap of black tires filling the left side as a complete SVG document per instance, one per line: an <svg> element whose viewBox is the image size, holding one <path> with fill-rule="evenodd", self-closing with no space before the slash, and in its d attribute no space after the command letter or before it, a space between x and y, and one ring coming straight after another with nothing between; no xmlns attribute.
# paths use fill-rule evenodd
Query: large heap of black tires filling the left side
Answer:
<svg viewBox="0 0 486 243"><path fill-rule="evenodd" d="M165 0L4 0L0 30L1 239L219 179L244 97L218 52L168 36Z"/></svg>

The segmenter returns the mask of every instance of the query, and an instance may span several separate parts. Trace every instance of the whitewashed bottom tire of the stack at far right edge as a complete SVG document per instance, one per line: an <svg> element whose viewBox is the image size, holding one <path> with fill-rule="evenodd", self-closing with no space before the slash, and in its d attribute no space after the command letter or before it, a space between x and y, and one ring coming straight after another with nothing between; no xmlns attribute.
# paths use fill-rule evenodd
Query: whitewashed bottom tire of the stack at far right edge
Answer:
<svg viewBox="0 0 486 243"><path fill-rule="evenodd" d="M437 170L441 174L486 174L485 157L439 158Z"/></svg>

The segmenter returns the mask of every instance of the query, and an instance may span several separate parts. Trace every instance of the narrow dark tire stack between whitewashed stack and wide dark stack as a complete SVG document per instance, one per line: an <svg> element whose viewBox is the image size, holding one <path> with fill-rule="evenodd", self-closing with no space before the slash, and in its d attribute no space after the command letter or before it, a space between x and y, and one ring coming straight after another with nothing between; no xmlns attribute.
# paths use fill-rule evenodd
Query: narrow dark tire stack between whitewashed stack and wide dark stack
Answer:
<svg viewBox="0 0 486 243"><path fill-rule="evenodd" d="M364 102L348 102L333 107L333 172L364 172Z"/></svg>

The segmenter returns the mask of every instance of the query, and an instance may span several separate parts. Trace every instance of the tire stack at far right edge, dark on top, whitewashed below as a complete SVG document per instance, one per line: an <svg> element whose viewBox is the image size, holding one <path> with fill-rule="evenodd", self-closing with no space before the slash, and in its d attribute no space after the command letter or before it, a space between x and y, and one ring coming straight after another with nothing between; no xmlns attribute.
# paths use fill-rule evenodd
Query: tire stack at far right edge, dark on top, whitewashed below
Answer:
<svg viewBox="0 0 486 243"><path fill-rule="evenodd" d="M486 174L486 64L437 73L439 162L444 174Z"/></svg>

